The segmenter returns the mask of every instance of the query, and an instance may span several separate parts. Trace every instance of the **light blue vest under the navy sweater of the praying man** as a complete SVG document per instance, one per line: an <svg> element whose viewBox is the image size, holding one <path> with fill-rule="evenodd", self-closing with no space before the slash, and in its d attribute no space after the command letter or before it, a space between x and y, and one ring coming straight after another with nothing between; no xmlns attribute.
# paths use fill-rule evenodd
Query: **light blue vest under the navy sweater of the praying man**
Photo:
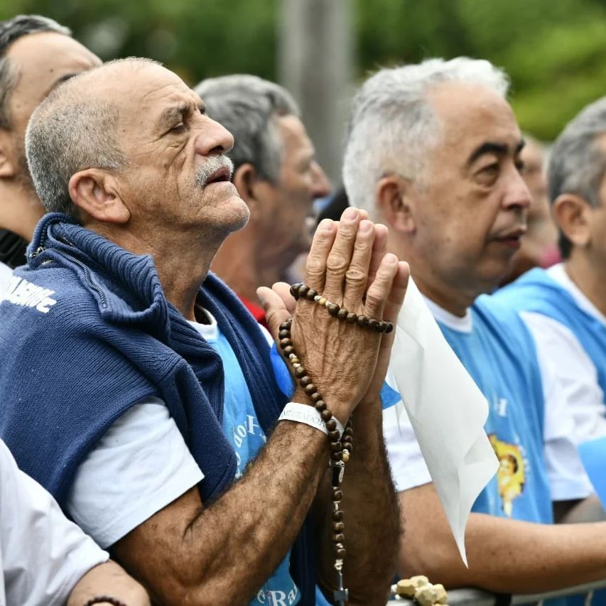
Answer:
<svg viewBox="0 0 606 606"><path fill-rule="evenodd" d="M218 329L217 340L208 337L206 340L221 356L223 362L225 395L222 426L224 434L236 451L236 477L239 478L248 462L256 457L266 443L266 436L259 427L242 369L229 342ZM290 552L250 602L251 605L291 606L301 600L301 593L288 570L289 561Z"/></svg>

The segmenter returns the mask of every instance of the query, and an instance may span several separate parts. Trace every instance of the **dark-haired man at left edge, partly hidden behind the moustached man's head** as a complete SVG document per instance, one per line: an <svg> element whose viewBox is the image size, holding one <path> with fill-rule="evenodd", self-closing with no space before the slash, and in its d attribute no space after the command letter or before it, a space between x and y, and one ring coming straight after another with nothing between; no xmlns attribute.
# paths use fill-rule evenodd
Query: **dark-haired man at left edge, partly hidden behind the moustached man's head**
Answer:
<svg viewBox="0 0 606 606"><path fill-rule="evenodd" d="M52 19L20 15L0 23L0 298L44 212L23 147L28 119L60 82L100 63Z"/></svg>

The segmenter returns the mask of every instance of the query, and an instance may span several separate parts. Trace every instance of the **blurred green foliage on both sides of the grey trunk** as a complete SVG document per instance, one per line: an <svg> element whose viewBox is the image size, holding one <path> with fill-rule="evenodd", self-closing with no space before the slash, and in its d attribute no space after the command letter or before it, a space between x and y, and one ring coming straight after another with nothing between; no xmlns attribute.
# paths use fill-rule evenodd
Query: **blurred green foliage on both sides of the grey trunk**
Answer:
<svg viewBox="0 0 606 606"><path fill-rule="evenodd" d="M511 76L521 126L546 140L606 94L603 0L350 1L359 78L428 56L487 58ZM153 57L192 85L229 72L275 79L279 10L279 0L0 0L0 18L53 17L104 59Z"/></svg>

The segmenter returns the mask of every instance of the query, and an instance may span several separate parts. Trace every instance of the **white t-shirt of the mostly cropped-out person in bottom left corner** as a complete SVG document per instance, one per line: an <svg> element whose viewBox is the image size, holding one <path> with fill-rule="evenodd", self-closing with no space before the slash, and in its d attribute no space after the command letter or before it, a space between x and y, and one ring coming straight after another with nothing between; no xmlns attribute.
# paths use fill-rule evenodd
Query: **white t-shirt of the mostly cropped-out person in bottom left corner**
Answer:
<svg viewBox="0 0 606 606"><path fill-rule="evenodd" d="M0 440L0 605L64 605L77 581L108 558Z"/></svg>

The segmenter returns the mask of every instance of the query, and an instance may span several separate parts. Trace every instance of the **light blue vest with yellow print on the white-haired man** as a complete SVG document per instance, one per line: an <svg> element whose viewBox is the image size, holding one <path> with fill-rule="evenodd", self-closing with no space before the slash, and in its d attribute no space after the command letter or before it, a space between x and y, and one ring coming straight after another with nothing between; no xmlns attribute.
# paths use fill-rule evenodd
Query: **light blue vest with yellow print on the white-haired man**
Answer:
<svg viewBox="0 0 606 606"><path fill-rule="evenodd" d="M472 510L551 523L543 455L543 388L534 342L516 313L487 297L470 310L472 331L438 322L446 340L485 395L486 433L501 462Z"/></svg>

